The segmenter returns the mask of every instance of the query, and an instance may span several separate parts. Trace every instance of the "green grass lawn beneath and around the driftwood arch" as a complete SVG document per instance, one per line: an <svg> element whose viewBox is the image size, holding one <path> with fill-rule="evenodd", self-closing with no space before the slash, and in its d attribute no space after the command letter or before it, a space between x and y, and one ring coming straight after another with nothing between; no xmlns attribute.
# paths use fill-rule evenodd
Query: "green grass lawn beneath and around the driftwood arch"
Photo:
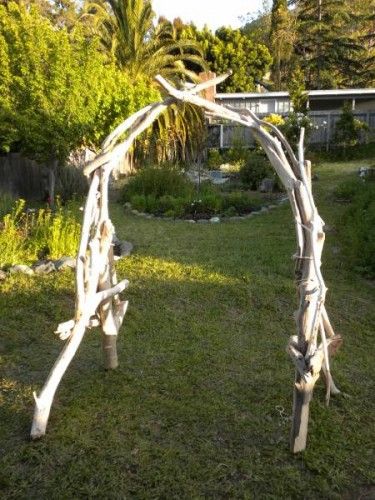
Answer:
<svg viewBox="0 0 375 500"><path fill-rule="evenodd" d="M342 210L331 192L357 166L317 169L317 200L331 227ZM326 408L318 382L308 448L294 456L294 370L285 350L296 308L290 208L217 225L112 208L118 236L135 244L118 264L130 279L120 367L103 371L99 332L89 331L37 442L28 439L32 391L62 347L53 331L72 317L74 276L13 276L1 285L0 497L371 495L375 288L347 269L334 232L323 275L344 337L333 373L345 394Z"/></svg>

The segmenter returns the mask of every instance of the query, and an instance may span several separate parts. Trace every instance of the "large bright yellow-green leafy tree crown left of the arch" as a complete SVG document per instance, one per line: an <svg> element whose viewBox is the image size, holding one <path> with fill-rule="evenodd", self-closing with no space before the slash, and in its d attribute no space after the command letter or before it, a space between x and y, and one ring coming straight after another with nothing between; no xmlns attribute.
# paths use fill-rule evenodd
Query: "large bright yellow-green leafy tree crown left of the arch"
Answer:
<svg viewBox="0 0 375 500"><path fill-rule="evenodd" d="M33 6L0 6L0 150L64 159L157 100L98 49L81 24L68 32Z"/></svg>

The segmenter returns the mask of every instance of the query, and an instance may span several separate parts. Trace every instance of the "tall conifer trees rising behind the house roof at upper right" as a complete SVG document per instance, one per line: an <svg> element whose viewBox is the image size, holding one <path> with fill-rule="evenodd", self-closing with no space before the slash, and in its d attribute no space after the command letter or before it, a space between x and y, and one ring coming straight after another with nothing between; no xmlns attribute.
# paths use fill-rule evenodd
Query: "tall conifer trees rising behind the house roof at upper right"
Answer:
<svg viewBox="0 0 375 500"><path fill-rule="evenodd" d="M372 0L273 0L243 31L269 48L274 90L287 90L298 68L307 89L372 87L373 21Z"/></svg>

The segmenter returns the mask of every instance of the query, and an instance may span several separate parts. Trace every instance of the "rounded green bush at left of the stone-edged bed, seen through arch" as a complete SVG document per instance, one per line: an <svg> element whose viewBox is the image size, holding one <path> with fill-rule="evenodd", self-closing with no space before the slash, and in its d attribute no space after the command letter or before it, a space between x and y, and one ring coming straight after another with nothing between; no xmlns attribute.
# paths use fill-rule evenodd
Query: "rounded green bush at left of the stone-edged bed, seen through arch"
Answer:
<svg viewBox="0 0 375 500"><path fill-rule="evenodd" d="M131 201L134 195L154 196L156 199L165 195L186 197L194 191L194 185L177 168L168 165L146 167L129 179L124 187L125 201Z"/></svg>

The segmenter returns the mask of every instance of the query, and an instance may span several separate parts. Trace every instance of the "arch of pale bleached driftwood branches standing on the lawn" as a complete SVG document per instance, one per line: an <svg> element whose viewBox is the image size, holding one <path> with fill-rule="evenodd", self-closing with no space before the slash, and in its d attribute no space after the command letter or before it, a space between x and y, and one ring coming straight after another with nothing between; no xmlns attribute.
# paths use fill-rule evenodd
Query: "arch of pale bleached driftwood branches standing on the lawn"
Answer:
<svg viewBox="0 0 375 500"><path fill-rule="evenodd" d="M298 291L298 309L295 312L296 334L290 337L288 352L295 365L293 421L291 450L306 447L309 404L314 385L323 370L326 381L326 401L339 390L331 372L329 355L332 345L339 343L325 308L326 286L321 274L321 255L324 245L324 222L319 216L311 190L311 168L304 161L303 130L298 158L277 127L262 122L249 110L235 110L205 100L201 91L222 82L228 75L214 78L194 87L177 90L162 77L156 77L168 93L161 103L141 109L127 118L104 141L102 151L85 166L90 188L84 210L81 242L76 267L75 315L61 323L57 333L67 340L56 360L45 385L35 397L35 412L31 437L39 438L46 432L48 417L56 389L73 359L87 328L100 325L105 368L118 365L116 341L127 301L119 294L128 281L117 282L113 264L113 225L108 214L108 182L119 158L123 157L136 137L146 130L167 107L185 101L201 107L206 114L249 127L266 152L283 183L292 207L297 251L295 280ZM124 140L120 140L126 135Z"/></svg>

